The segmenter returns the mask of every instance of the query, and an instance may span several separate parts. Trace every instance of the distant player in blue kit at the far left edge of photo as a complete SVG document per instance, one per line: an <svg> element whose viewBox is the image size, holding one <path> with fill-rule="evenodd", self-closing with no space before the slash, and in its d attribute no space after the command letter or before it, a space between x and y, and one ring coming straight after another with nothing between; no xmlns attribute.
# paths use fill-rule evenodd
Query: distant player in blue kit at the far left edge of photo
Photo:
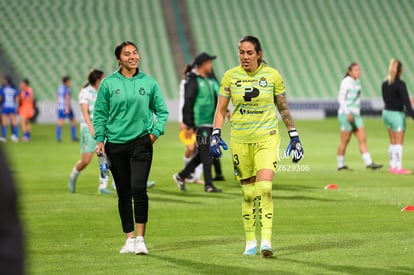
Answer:
<svg viewBox="0 0 414 275"><path fill-rule="evenodd" d="M1 102L1 137L0 141L7 140L7 126L10 120L12 125L11 140L19 141L19 127L17 125L17 106L19 90L13 86L11 78L6 76L3 79L3 86L0 88Z"/></svg>

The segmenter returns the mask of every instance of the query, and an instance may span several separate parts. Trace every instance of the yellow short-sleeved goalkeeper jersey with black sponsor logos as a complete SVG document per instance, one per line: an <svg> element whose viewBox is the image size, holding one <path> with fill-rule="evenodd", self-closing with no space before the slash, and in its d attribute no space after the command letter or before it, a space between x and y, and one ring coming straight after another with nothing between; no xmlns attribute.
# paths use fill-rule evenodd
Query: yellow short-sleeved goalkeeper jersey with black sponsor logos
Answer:
<svg viewBox="0 0 414 275"><path fill-rule="evenodd" d="M228 70L221 81L219 95L231 98L231 139L255 143L278 133L274 97L285 92L280 73L266 64L247 72L241 66Z"/></svg>

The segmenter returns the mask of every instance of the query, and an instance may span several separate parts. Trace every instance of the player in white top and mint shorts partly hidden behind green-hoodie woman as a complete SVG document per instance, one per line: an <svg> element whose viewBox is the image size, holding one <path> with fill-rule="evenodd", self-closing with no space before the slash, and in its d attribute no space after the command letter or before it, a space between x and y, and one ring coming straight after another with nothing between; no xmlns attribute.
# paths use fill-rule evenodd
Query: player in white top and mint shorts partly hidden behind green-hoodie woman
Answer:
<svg viewBox="0 0 414 275"><path fill-rule="evenodd" d="M95 107L98 87L104 77L104 72L94 69L88 75L88 82L79 93L79 104L81 107L80 123L80 145L82 158L76 162L69 176L69 191L74 193L76 190L76 179L79 173L88 166L95 153L96 141L94 139L95 130L93 129L92 119ZM98 171L98 170L97 170ZM98 192L101 194L112 194L107 189L108 179L99 178Z"/></svg>

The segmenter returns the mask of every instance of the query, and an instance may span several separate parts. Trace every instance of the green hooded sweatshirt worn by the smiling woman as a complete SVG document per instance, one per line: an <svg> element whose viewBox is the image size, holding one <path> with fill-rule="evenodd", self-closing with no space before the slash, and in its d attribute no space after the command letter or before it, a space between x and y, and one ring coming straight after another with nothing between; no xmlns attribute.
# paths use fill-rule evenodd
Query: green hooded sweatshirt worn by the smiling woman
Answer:
<svg viewBox="0 0 414 275"><path fill-rule="evenodd" d="M155 120L154 120L155 115ZM95 140L127 143L164 134L168 110L158 83L142 72L131 78L119 71L104 78L95 102Z"/></svg>

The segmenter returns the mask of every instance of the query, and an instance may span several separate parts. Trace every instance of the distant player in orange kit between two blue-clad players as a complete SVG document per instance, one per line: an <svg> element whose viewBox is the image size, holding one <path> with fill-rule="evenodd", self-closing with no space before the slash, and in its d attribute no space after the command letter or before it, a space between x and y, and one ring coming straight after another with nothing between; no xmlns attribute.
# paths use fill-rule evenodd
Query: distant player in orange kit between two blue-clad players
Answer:
<svg viewBox="0 0 414 275"><path fill-rule="evenodd" d="M19 116L20 125L23 131L23 141L29 141L31 138L31 125L30 120L32 119L34 110L34 95L33 90L29 86L29 80L23 79L20 82L20 105L19 105Z"/></svg>

